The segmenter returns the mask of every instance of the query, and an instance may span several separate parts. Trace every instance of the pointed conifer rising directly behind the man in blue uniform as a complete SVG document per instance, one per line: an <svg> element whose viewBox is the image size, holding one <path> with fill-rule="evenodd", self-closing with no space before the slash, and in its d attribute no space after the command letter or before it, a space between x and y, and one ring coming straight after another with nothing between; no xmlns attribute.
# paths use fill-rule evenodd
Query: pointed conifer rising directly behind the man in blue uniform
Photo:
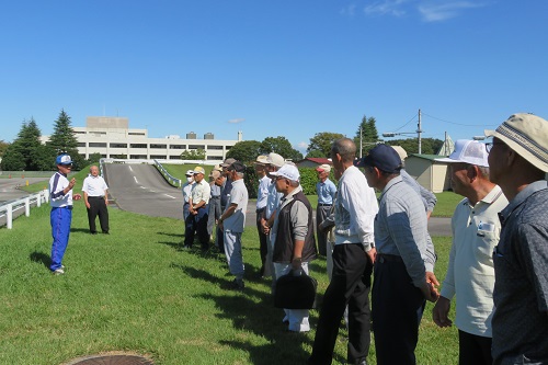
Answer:
<svg viewBox="0 0 548 365"><path fill-rule="evenodd" d="M70 155L73 166L72 170L80 170L84 167L84 159L78 153L78 139L71 126L70 116L61 110L54 124L54 133L47 142L57 153L67 152Z"/></svg>

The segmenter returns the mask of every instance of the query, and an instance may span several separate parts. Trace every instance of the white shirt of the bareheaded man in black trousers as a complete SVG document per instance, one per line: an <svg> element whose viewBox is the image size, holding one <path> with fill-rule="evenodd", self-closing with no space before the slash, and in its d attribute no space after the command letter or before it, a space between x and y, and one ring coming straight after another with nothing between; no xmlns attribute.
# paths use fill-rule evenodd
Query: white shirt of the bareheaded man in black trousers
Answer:
<svg viewBox="0 0 548 365"><path fill-rule="evenodd" d="M334 205L335 244L362 243L369 251L375 240L373 226L377 212L375 191L364 174L351 166L339 180Z"/></svg>

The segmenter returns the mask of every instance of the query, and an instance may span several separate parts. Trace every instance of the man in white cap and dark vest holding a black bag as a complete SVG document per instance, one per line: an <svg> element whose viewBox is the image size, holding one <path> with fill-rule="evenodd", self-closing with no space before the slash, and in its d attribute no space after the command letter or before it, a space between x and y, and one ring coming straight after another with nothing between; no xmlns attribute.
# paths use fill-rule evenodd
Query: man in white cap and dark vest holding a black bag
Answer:
<svg viewBox="0 0 548 365"><path fill-rule="evenodd" d="M284 164L275 176L276 190L284 195L272 227L274 253L272 261L276 280L290 271L302 270L308 275L308 262L316 259L312 207L299 184L299 170ZM308 309L284 309L289 331L308 332Z"/></svg>

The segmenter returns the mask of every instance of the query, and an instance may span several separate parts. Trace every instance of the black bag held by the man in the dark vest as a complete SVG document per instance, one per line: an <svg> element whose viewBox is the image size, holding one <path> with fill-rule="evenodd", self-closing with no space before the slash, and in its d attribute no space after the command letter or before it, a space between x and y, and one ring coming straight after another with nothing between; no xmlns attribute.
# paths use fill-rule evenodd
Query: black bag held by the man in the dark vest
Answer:
<svg viewBox="0 0 548 365"><path fill-rule="evenodd" d="M274 306L286 309L316 308L318 282L302 270L290 271L276 281Z"/></svg>

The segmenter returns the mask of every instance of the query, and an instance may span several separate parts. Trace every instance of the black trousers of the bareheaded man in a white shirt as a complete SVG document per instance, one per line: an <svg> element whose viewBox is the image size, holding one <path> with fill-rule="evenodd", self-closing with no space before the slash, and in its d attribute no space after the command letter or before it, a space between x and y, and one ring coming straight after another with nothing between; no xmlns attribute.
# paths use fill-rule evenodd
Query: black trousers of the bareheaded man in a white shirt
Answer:
<svg viewBox="0 0 548 365"><path fill-rule="evenodd" d="M362 243L336 244L329 284L308 364L331 364L346 305L349 306L349 364L359 364L369 352L369 287L373 266Z"/></svg>

